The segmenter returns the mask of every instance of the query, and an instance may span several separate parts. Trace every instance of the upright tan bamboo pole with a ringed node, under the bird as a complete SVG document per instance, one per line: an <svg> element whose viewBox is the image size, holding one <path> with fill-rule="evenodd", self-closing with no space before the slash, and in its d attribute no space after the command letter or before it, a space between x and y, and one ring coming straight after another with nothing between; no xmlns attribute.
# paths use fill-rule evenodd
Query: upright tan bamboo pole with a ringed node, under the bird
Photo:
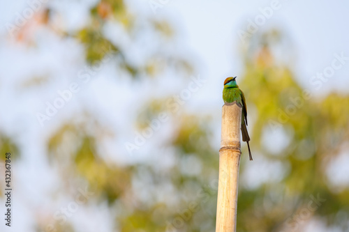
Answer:
<svg viewBox="0 0 349 232"><path fill-rule="evenodd" d="M237 227L241 114L237 102L223 105L216 232L235 232Z"/></svg>

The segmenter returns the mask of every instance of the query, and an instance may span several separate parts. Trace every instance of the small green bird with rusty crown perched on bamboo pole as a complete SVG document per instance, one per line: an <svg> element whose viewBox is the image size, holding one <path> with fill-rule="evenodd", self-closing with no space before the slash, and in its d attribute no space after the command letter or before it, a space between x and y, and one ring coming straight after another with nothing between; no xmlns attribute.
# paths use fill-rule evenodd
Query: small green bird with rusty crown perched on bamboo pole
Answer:
<svg viewBox="0 0 349 232"><path fill-rule="evenodd" d="M227 79L225 79L224 88L223 88L223 101L224 103L237 101L237 103L239 103L239 105L242 106L242 121L241 121L242 141L247 142L250 160L253 160L251 155L250 144L248 144L248 141L250 141L251 139L247 131L248 123L247 123L247 106L246 106L245 95L237 85L236 78L237 77L228 77Z"/></svg>

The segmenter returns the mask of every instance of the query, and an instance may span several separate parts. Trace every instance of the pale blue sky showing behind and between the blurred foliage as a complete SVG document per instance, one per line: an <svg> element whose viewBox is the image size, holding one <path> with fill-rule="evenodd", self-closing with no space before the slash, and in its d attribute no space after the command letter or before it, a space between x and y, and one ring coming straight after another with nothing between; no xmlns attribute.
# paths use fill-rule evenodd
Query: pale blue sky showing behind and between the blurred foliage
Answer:
<svg viewBox="0 0 349 232"><path fill-rule="evenodd" d="M72 41L62 42L57 40L57 38L45 31L43 31L43 34L38 35L42 36L38 39L42 42L43 48L37 54L25 47L13 47L8 42L6 25L14 22L17 17L16 14L26 9L29 2L31 1L2 1L1 6L5 7L0 8L0 104L8 113L0 116L0 127L1 130L17 137L17 141L26 150L22 161L17 166L17 176L22 176L18 184L20 189L17 197L20 200L18 200L16 206L17 212L22 212L22 217L17 215L19 218L17 220L24 222L22 225L17 224L17 226L22 226L19 227L21 231L24 231L31 224L30 218L23 215L29 214L31 207L40 205L41 199L54 187L52 186L52 180L55 178L54 171L50 170L50 167L47 166L47 163L41 157L45 155L45 150L43 150L45 141L43 141L43 138L50 134L58 123L50 123L44 129L38 129L40 127L38 127L35 114L37 111L45 109L45 103L40 101L40 99L27 98L26 95L22 95L20 88L16 87L10 91L7 86L15 86L19 79L26 78L25 75L27 73L38 72L40 74L40 72L46 71L54 73L60 70L59 72L57 71L57 75L75 75L79 70L74 67L83 65L83 63L79 63L82 62L81 59L76 59L81 56L81 47ZM93 3L94 1L89 2ZM195 107L205 105L204 110L206 112L214 110L216 112L212 114L216 118L220 117L221 111L218 109L223 105L221 92L224 79L230 76L239 77L244 75L241 55L239 54L243 42L239 38L238 31L246 31L248 20L253 21L256 17L262 15L260 8L271 8L276 5L278 6L277 10L272 11L271 16L265 20L265 23L258 26L258 30L279 26L288 35L293 48L292 56L295 56L290 65L295 68L295 74L299 83L319 96L334 90L346 93L349 91L349 59L346 63L343 63L341 68L335 70L334 74L327 79L327 82L324 81L321 88L316 89L315 85L310 83L311 77L318 72L324 72L326 68L332 65L336 58L335 54L343 54L343 56L349 57L348 1L331 2L320 0L314 3L314 1L296 0L168 0L163 1L163 7L158 8L155 13L149 6L150 2L148 0L130 0L128 4L134 8L142 9L145 14L154 14L154 17L164 17L170 20L174 24L177 36L179 36L179 45L182 46L184 52L188 49L194 58L194 63L198 70L195 76L200 76L207 80L200 88L200 91L195 93L185 106L188 109L196 110L197 108ZM52 1L52 4L61 4L59 8L66 14L68 20L65 23L71 29L84 24L84 19L88 13L88 4L80 4L80 1L76 1L73 7L64 1ZM84 6L84 8L80 6ZM73 48L70 50L71 57L67 57L64 54L67 48ZM51 52L55 54L54 57L51 55ZM105 67L97 77L114 75L111 67L111 64L105 64ZM57 85L55 88L63 89L66 88L65 86L69 82L62 79L53 84ZM84 91L79 93L78 100L70 102L64 108L64 111L68 113L58 115L57 120L61 121L64 118L69 118L79 108L81 102L89 102L91 105L98 106L98 111L103 112L111 105L119 104L118 98L120 95L132 98L132 92L126 90L129 84L128 81L122 80L114 95L99 95L99 98L90 98L89 93L97 93L98 89L112 88L110 80L97 78L94 81L94 85L83 87ZM156 88L161 88L163 85L165 83L160 83ZM186 87L186 84L177 83L177 87L180 90ZM144 89L140 90L140 95L151 94L154 92L153 88L154 86L145 84ZM110 93L112 91L105 92ZM47 98L54 98L54 94L48 93L45 89L40 90L40 95L48 96ZM8 100L9 98L10 100ZM133 102L136 102L136 100L136 98L131 99ZM126 108L128 108L128 105L125 103L112 109L110 116L105 116L105 121L112 121L112 117L119 116L118 112ZM121 121L126 121L131 114L132 112L129 112L127 116L121 118ZM111 125L111 127L113 126L124 127L124 130L126 130L129 123ZM165 127L169 127L169 125L165 125ZM216 133L219 134L218 131ZM152 141L154 142L157 138L163 136L164 134L160 132ZM126 134L126 137L132 138L133 134ZM219 136L216 136L216 144L219 144L219 139ZM110 141L110 144L112 143L114 141ZM124 152L123 148L114 148L110 144L105 145L106 150L120 149L121 153ZM144 151L144 153L147 153L147 151ZM130 162L130 160L133 162L142 160L142 157L119 157L118 159L124 159L123 162ZM348 159L345 157L341 159L348 162ZM336 163L337 169L340 169L341 164L345 163L343 160L338 162L338 164ZM278 164L273 165L276 169L279 167ZM338 176L336 170L330 171L334 173L333 176ZM269 173L266 173L265 176L260 177L259 183L251 183L251 185L260 184L265 178L268 178L268 175ZM25 177L31 180L41 177L40 183L30 185ZM336 181L338 180L334 179L334 183ZM21 194L21 192L26 194ZM25 204L21 206L21 201L27 202L27 197L34 199L31 201L31 206ZM59 200L60 203L69 202L68 199ZM100 210L104 212L103 209ZM84 213L93 214L93 212ZM79 215L80 217L84 218L83 213ZM108 227L110 223L105 222L104 224L105 228L101 229L101 231L110 231ZM94 226L91 226L91 228L94 228Z"/></svg>

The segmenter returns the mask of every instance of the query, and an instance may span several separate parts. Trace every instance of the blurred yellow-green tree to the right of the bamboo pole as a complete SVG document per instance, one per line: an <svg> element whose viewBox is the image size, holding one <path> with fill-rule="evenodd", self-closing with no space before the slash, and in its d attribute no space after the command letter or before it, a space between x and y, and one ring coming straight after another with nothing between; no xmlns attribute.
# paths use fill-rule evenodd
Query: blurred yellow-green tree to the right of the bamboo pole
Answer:
<svg viewBox="0 0 349 232"><path fill-rule="evenodd" d="M285 56L272 52L287 53L285 41L278 30L257 33L244 53L242 86L248 105L255 107L251 140L262 155L255 165L277 162L285 171L272 171L277 181L239 188L237 231L302 231L312 218L348 231L345 221L336 220L340 211L349 217L349 201L343 197L348 188L332 189L327 169L349 139L349 95L330 93L320 100L302 88L290 65L276 63ZM278 136L285 137L285 145L271 141Z"/></svg>

